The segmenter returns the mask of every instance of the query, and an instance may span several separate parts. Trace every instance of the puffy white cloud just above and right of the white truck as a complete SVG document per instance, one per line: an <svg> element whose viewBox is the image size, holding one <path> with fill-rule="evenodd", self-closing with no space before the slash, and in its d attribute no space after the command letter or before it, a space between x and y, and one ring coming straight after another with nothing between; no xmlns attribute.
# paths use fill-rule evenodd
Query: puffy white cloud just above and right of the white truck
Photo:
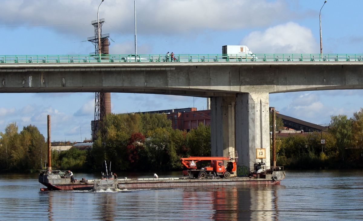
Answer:
<svg viewBox="0 0 363 221"><path fill-rule="evenodd" d="M264 32L254 31L241 44L247 45L255 54L310 54L318 53L313 33L309 28L295 22L277 25Z"/></svg>

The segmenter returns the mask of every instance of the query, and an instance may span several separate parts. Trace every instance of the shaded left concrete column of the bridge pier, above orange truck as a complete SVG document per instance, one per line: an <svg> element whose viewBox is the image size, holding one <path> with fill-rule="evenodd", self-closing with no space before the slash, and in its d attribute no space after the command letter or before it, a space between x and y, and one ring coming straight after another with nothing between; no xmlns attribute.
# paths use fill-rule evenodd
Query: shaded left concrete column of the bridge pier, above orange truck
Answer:
<svg viewBox="0 0 363 221"><path fill-rule="evenodd" d="M236 148L236 97L211 98L212 157L228 157Z"/></svg>

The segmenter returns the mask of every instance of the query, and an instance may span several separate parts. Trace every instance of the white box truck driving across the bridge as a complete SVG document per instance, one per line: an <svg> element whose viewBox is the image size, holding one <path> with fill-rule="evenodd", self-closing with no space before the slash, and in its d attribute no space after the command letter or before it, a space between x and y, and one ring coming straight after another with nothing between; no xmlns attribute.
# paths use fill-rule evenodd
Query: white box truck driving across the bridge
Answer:
<svg viewBox="0 0 363 221"><path fill-rule="evenodd" d="M255 55L245 45L225 45L222 46L223 59L253 59Z"/></svg>

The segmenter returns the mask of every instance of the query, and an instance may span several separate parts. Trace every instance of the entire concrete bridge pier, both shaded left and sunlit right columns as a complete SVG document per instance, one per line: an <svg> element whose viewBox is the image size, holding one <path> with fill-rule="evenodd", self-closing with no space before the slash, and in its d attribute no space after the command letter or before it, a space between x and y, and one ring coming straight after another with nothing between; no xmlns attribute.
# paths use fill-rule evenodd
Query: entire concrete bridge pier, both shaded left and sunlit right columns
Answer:
<svg viewBox="0 0 363 221"><path fill-rule="evenodd" d="M238 166L253 168L256 162L270 166L269 94L238 93L211 98L212 156L238 151ZM256 149L265 158L256 158Z"/></svg>

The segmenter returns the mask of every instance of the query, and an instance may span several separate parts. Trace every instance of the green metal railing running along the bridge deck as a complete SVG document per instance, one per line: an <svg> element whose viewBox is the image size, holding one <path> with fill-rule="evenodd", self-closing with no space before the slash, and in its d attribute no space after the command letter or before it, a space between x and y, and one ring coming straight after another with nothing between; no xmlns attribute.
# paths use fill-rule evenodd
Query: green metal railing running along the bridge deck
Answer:
<svg viewBox="0 0 363 221"><path fill-rule="evenodd" d="M363 54L0 55L0 63L363 61Z"/></svg>

